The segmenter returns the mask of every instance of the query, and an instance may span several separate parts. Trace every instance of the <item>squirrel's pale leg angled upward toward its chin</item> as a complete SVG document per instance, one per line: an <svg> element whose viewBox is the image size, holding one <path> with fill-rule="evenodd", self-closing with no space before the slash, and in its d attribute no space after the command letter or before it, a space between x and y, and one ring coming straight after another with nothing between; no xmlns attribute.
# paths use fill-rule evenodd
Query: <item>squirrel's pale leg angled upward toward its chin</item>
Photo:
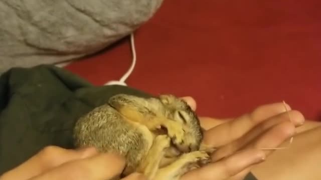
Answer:
<svg viewBox="0 0 321 180"><path fill-rule="evenodd" d="M165 155L165 149L170 145L171 138L168 135L156 136L147 155L143 158L136 171L143 173L148 179L153 179Z"/></svg>

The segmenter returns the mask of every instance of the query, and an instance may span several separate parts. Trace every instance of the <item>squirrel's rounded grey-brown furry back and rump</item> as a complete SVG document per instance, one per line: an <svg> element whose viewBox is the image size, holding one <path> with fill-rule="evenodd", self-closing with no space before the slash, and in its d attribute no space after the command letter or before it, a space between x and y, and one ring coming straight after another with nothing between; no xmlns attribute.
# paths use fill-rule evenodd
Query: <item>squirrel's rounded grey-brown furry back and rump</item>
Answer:
<svg viewBox="0 0 321 180"><path fill-rule="evenodd" d="M79 119L74 134L77 146L94 146L100 152L117 152L126 159L126 171L134 170L150 145L141 128L108 104ZM151 135L151 134L150 134Z"/></svg>

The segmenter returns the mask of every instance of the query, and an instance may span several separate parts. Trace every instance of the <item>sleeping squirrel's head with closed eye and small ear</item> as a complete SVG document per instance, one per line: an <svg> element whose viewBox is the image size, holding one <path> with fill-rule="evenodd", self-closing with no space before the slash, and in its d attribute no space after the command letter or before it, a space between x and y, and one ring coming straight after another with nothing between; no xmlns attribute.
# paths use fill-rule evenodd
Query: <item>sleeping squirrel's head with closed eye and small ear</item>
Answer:
<svg viewBox="0 0 321 180"><path fill-rule="evenodd" d="M184 152L198 150L203 140L203 131L195 111L185 100L174 95L159 95L159 99L165 105L165 115L183 124L185 138L182 144L176 144L178 148Z"/></svg>

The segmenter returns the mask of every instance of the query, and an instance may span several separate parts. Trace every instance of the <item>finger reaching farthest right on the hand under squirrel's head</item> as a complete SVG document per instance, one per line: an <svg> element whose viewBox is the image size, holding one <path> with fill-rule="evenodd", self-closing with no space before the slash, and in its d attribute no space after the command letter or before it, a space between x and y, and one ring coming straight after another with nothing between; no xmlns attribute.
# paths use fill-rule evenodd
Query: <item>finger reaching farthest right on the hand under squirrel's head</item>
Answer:
<svg viewBox="0 0 321 180"><path fill-rule="evenodd" d="M262 133L266 132L268 129L271 127L280 124L282 122L290 122L290 119L288 116L294 117L294 125L299 125L301 123L298 123L299 121L302 121L301 119L297 118L302 118L301 114L298 111L291 110L289 112L283 112L280 113L276 116L270 117L268 120L263 121L262 123L258 124L255 126L253 129L251 129L249 132L238 138L237 140L228 143L226 145L223 145L222 147L218 148L213 154L212 158L213 160L219 160L220 158L224 156L228 156L235 151L239 150L246 144L250 143L253 141L253 139L257 138L259 135ZM288 124L287 127L285 128L291 128L292 129L293 125L291 123Z"/></svg>

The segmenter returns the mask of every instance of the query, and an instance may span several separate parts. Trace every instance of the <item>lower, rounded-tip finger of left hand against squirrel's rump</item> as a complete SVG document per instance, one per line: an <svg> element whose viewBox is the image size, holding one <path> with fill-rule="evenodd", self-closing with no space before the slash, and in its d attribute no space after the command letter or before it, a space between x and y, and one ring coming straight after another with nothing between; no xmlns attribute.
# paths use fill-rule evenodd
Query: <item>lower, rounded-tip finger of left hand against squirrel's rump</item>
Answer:
<svg viewBox="0 0 321 180"><path fill-rule="evenodd" d="M125 166L124 158L111 153L66 162L30 180L100 180L118 176Z"/></svg>

